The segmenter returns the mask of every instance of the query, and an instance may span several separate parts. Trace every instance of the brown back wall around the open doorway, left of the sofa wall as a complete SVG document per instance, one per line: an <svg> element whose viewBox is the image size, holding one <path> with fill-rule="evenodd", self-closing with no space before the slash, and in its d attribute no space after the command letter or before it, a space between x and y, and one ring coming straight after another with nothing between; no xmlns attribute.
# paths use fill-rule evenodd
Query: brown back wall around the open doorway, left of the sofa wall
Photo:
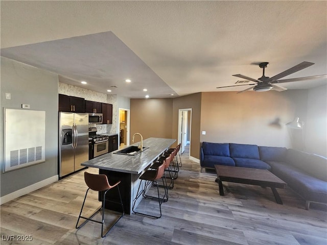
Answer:
<svg viewBox="0 0 327 245"><path fill-rule="evenodd" d="M178 110L191 108L190 155L197 159L199 158L201 93L185 95L175 99L131 99L130 102L131 137L134 133L139 132L145 139L149 137L173 138L176 139L176 143L178 138Z"/></svg>

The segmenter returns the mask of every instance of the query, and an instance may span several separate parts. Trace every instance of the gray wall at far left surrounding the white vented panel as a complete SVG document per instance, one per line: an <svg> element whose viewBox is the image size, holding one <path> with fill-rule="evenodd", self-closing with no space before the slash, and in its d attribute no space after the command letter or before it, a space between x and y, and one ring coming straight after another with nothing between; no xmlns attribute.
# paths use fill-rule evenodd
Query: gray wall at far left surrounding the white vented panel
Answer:
<svg viewBox="0 0 327 245"><path fill-rule="evenodd" d="M1 197L58 175L58 75L1 57L1 132L4 108L20 109L21 104L45 111L45 162L3 173L1 147Z"/></svg>

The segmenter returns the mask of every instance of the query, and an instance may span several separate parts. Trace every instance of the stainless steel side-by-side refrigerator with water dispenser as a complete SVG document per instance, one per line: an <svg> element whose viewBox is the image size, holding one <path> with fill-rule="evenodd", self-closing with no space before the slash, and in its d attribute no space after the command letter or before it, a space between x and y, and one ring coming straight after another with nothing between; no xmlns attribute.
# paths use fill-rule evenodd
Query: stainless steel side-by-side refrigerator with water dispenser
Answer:
<svg viewBox="0 0 327 245"><path fill-rule="evenodd" d="M88 113L59 112L59 178L88 161Z"/></svg>

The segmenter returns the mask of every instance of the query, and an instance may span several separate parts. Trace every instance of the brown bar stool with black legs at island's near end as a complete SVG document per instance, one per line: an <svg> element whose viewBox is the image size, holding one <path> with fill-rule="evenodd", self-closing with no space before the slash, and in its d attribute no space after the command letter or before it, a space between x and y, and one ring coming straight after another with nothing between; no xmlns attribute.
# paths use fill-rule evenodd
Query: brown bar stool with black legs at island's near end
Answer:
<svg viewBox="0 0 327 245"><path fill-rule="evenodd" d="M115 183L114 185L110 185L109 182L108 182L108 178L106 175L103 175L103 174L100 174L100 175L94 175L94 174L89 174L87 172L84 172L84 180L85 180L85 183L86 185L88 186L87 190L86 190L86 193L85 193L85 197L84 197L84 201L83 201L83 205L82 205L82 208L81 208L81 211L80 211L80 214L78 216L78 219L77 219L77 223L76 223L76 229L79 229L81 227L83 227L89 220L93 221L93 222L97 222L99 224L102 224L101 226L101 237L105 237L108 232L111 230L111 228L113 228L113 226L118 222L118 220L120 220L125 212L124 212L124 206L123 206L123 202L122 202L122 197L121 197L121 192L119 190L119 183L121 183L120 181ZM120 198L120 203L119 202L114 202L114 201L110 201L110 200L106 200L106 193L108 192L108 190L112 189L113 187L117 187L118 188L118 193L119 193L119 198ZM86 196L87 196L87 193L88 193L88 190L91 189L91 190L95 190L95 191L104 191L103 193L103 198L102 198L102 205L101 207L94 213L92 214L90 217L83 217L82 216L82 211L83 211L83 207L84 207L84 204L85 204L85 200L86 200ZM123 210L123 213L122 215L116 219L116 221L114 222L114 224L109 228L109 230L106 232L106 234L103 235L103 224L104 224L104 207L105 207L105 202L112 202L112 203L118 203L118 204L121 204L122 205L122 210ZM100 212L102 210L102 221L98 221L98 220L95 220L95 219L92 219L98 212ZM86 219L80 226L78 226L78 222L80 220L80 218L84 218Z"/></svg>

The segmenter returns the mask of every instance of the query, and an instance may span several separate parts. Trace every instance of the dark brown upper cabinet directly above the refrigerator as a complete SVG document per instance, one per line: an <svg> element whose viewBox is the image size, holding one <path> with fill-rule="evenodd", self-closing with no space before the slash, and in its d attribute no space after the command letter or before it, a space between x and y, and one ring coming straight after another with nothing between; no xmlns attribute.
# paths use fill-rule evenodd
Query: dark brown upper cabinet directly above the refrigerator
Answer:
<svg viewBox="0 0 327 245"><path fill-rule="evenodd" d="M85 99L59 93L59 111L85 112Z"/></svg>

